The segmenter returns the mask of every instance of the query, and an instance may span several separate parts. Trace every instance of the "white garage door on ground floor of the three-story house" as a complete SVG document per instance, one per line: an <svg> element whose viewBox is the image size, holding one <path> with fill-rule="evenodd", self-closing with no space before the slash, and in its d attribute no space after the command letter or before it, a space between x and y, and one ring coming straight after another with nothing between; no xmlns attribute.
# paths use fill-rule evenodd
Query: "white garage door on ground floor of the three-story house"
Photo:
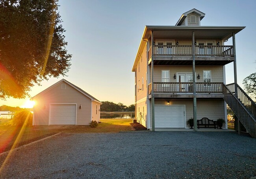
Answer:
<svg viewBox="0 0 256 179"><path fill-rule="evenodd" d="M184 106L155 106L155 128L185 128Z"/></svg>

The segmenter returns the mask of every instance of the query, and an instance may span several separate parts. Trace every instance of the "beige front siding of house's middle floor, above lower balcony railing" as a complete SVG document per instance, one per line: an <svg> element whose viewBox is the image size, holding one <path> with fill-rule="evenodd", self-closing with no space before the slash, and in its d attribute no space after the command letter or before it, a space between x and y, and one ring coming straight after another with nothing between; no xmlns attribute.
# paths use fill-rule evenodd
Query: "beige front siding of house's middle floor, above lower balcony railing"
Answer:
<svg viewBox="0 0 256 179"><path fill-rule="evenodd" d="M192 66L154 66L154 82L161 82L161 71L170 70L170 82L176 82L174 74L177 73L192 73ZM196 66L196 74L200 75L197 82L203 82L203 70L211 70L211 82L223 82L223 66Z"/></svg>

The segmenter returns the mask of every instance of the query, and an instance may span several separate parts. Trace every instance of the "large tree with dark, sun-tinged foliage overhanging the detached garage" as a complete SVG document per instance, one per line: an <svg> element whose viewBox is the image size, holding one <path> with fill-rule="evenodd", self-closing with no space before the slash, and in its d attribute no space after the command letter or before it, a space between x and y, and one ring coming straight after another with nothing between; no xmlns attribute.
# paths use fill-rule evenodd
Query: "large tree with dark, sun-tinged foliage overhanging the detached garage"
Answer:
<svg viewBox="0 0 256 179"><path fill-rule="evenodd" d="M0 99L69 71L61 22L58 0L0 0Z"/></svg>

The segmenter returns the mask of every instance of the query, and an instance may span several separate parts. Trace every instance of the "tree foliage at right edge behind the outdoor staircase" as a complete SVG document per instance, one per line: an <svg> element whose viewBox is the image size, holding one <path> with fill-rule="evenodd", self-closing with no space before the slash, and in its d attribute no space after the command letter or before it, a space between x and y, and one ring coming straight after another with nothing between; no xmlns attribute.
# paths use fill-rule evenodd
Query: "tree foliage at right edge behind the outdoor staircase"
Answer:
<svg viewBox="0 0 256 179"><path fill-rule="evenodd" d="M248 77L243 80L243 85L245 91L249 93L249 95L256 99L256 73L252 73Z"/></svg>

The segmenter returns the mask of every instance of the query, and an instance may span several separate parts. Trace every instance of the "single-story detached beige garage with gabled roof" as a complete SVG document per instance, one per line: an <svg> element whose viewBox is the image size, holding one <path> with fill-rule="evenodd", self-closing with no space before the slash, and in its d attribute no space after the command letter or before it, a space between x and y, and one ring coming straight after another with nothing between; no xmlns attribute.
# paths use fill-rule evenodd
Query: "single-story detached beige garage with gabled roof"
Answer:
<svg viewBox="0 0 256 179"><path fill-rule="evenodd" d="M33 125L89 125L100 121L95 97L65 79L32 97Z"/></svg>

